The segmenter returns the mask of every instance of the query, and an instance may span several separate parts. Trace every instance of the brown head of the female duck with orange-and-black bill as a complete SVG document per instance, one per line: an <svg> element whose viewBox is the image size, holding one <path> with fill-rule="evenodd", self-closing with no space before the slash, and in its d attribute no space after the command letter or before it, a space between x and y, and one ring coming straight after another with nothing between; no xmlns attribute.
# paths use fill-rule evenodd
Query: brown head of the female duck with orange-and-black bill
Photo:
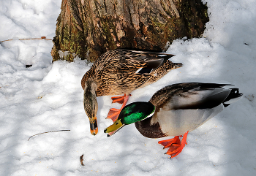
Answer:
<svg viewBox="0 0 256 176"><path fill-rule="evenodd" d="M83 106L90 120L90 131L92 135L98 133L97 112L98 102L96 96L97 84L92 80L87 80L83 92Z"/></svg>

